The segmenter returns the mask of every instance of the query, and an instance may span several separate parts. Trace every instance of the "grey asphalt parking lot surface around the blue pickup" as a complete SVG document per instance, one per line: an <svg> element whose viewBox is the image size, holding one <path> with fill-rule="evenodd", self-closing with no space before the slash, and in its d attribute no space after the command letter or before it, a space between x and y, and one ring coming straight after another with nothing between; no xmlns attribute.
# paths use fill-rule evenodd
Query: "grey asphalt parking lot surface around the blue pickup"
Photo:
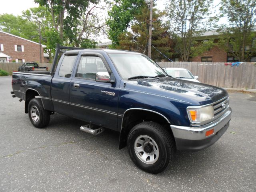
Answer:
<svg viewBox="0 0 256 192"><path fill-rule="evenodd" d="M256 94L230 92L230 127L213 146L176 153L172 166L148 174L118 150L118 133L92 136L86 123L60 114L34 128L24 101L0 77L0 192L256 191Z"/></svg>

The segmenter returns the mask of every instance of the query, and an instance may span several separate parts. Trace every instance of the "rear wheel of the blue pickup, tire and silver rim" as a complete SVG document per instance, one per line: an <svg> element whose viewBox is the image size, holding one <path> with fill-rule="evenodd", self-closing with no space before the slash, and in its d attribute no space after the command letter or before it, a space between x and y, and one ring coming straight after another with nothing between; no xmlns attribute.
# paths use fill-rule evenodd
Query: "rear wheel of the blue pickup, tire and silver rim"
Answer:
<svg viewBox="0 0 256 192"><path fill-rule="evenodd" d="M28 103L28 116L31 123L37 128L44 128L50 122L50 111L44 109L40 98L30 100Z"/></svg>

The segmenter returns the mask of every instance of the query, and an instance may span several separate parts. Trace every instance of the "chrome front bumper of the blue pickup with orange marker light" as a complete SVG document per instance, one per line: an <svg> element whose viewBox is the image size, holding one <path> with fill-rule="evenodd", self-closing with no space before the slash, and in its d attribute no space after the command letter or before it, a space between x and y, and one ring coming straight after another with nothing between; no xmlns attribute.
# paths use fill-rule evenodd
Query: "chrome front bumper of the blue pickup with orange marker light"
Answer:
<svg viewBox="0 0 256 192"><path fill-rule="evenodd" d="M203 126L186 127L171 125L177 150L197 151L214 144L227 130L231 120L231 113L231 108L228 108L218 119ZM206 136L206 132L212 129L214 129L214 133Z"/></svg>

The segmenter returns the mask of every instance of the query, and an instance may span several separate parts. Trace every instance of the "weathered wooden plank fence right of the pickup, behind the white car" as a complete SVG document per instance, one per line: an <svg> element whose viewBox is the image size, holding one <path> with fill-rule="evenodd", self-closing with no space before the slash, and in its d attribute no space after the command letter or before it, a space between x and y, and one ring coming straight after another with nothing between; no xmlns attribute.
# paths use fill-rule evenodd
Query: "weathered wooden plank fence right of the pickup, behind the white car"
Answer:
<svg viewBox="0 0 256 192"><path fill-rule="evenodd" d="M256 89L255 63L225 66L223 62L158 62L162 67L186 68L199 81L223 88Z"/></svg>

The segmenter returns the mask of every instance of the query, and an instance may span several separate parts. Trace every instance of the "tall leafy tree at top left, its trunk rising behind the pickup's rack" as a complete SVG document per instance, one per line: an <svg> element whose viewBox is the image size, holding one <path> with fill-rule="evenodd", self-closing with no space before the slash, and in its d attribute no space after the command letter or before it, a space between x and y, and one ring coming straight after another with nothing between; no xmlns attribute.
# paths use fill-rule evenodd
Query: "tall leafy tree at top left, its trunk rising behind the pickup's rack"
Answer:
<svg viewBox="0 0 256 192"><path fill-rule="evenodd" d="M53 26L60 33L60 38L63 40L64 25L73 27L89 4L96 4L98 0L34 0L34 2L49 9ZM65 20L64 14L66 14Z"/></svg>

